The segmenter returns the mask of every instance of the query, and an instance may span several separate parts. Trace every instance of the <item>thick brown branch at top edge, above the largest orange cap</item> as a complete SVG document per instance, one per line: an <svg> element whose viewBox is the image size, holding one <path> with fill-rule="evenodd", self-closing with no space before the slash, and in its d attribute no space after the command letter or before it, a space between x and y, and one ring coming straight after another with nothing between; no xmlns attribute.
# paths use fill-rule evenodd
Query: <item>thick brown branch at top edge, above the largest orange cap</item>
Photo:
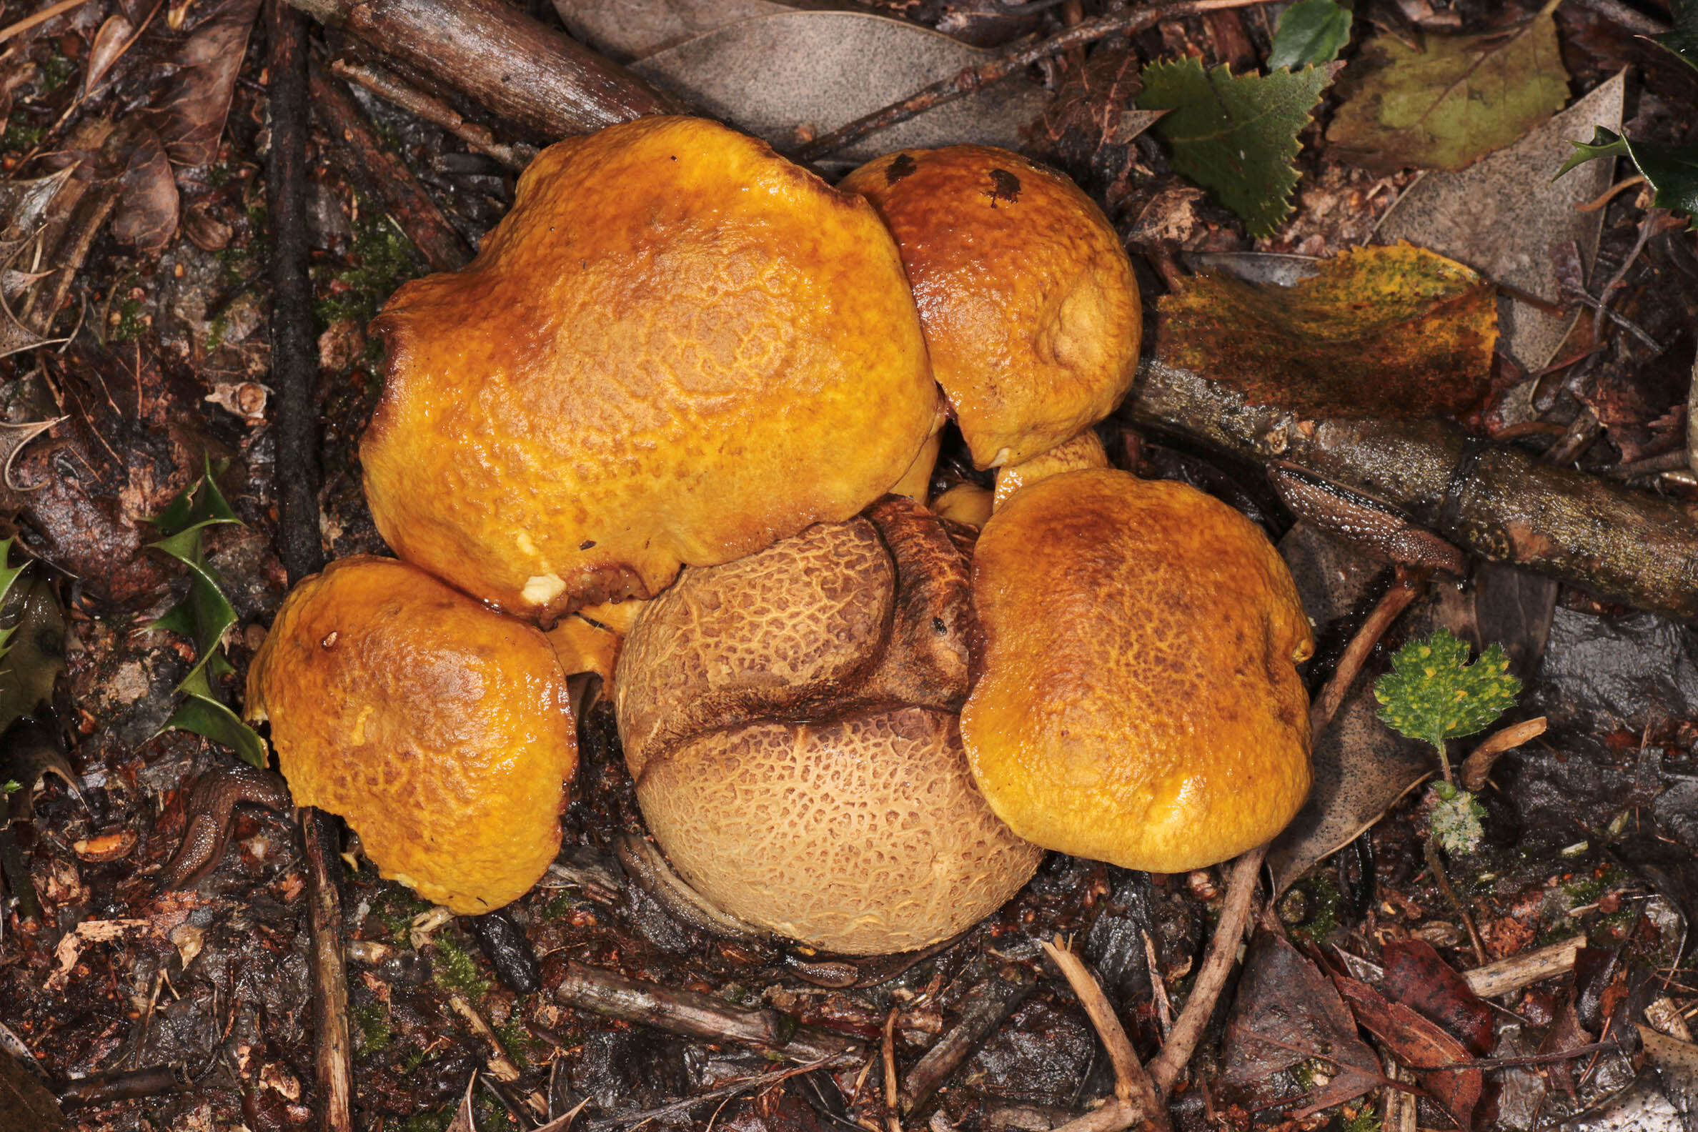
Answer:
<svg viewBox="0 0 1698 1132"><path fill-rule="evenodd" d="M501 0L290 0L543 137L684 110Z"/></svg>

